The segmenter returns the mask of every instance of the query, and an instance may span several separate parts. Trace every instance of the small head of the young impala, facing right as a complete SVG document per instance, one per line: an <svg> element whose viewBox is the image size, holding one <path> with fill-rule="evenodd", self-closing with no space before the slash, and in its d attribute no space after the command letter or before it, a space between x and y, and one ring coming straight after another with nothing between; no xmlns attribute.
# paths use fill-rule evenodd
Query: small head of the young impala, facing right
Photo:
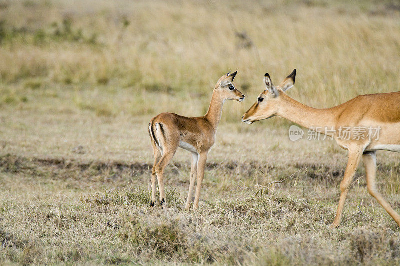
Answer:
<svg viewBox="0 0 400 266"><path fill-rule="evenodd" d="M218 82L216 82L214 93L218 93L218 95L225 100L235 100L235 101L243 101L244 94L242 94L236 86L233 85L233 79L236 76L237 71L230 74L227 73L219 78Z"/></svg>

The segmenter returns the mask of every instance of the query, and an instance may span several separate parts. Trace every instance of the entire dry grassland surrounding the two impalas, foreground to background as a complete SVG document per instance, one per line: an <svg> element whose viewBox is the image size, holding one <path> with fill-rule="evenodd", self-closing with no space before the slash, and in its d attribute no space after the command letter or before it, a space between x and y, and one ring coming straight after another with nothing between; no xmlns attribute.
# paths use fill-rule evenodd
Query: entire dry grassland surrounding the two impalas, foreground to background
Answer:
<svg viewBox="0 0 400 266"><path fill-rule="evenodd" d="M240 116L297 68L314 107L400 88L396 1L0 1L0 264L400 264L398 226L357 171L329 229L346 152L291 142L281 118ZM185 211L189 159L150 208L149 119L205 113L238 70L208 157L200 210ZM378 187L400 210L400 156ZM273 183L290 177L283 182Z"/></svg>

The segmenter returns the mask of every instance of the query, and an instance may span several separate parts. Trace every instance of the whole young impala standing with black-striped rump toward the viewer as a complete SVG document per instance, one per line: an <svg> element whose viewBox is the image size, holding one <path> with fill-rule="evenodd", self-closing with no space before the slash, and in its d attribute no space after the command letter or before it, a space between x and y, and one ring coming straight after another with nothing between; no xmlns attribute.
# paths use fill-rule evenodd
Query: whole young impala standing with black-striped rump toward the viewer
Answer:
<svg viewBox="0 0 400 266"><path fill-rule="evenodd" d="M230 73L230 72L229 72ZM154 164L151 171L151 205L155 202L155 179L158 179L160 204L165 202L164 169L174 156L178 147L192 153L189 195L186 209L190 208L191 194L197 177L194 208L198 208L200 187L204 177L204 167L208 151L215 141L215 133L221 119L222 106L226 100L244 100L244 95L233 85L236 72L219 78L212 93L211 103L204 116L185 117L173 113L161 113L151 119L148 131L154 151Z"/></svg>

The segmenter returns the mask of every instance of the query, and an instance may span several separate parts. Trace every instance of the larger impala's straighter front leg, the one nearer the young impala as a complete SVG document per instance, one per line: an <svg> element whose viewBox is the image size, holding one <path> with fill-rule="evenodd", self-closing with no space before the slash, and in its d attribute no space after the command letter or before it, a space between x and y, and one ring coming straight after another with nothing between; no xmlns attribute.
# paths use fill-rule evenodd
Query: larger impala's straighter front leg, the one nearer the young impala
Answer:
<svg viewBox="0 0 400 266"><path fill-rule="evenodd" d="M355 171L359 165L359 162L364 151L364 146L354 145L348 148L348 161L346 171L344 173L343 180L340 183L340 200L339 206L337 207L336 218L330 227L335 228L340 224L341 214L343 212L344 202L347 197L348 190L350 189L351 181L353 180Z"/></svg>

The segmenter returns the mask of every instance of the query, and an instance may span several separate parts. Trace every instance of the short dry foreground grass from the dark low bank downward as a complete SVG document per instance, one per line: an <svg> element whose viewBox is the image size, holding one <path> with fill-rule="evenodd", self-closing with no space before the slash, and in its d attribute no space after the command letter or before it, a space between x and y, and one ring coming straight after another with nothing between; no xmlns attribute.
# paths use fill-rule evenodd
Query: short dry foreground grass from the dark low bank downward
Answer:
<svg viewBox="0 0 400 266"><path fill-rule="evenodd" d="M2 156L0 165L3 263L374 265L399 259L397 225L367 195L363 182L352 189L342 226L327 228L337 191L313 176L333 175L329 169L310 168L267 194L255 193L254 184L237 186L248 178L239 174L241 180L226 194L220 177L246 166L209 164L206 200L199 212L187 212L187 178L177 172L187 177L185 166L168 169L174 177L168 180L165 210L149 207L146 165L10 155Z"/></svg>

